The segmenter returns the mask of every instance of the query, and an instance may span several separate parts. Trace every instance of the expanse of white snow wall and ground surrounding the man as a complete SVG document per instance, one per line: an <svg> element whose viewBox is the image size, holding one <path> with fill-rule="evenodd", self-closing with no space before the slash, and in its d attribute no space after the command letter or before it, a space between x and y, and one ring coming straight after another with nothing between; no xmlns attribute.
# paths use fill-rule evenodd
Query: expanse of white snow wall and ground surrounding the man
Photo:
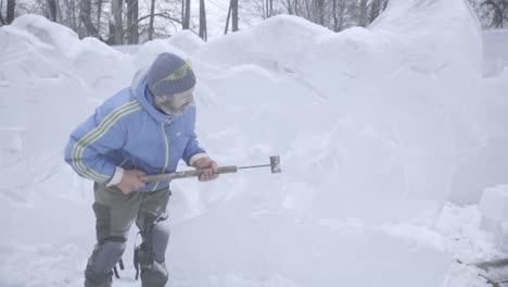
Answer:
<svg viewBox="0 0 508 287"><path fill-rule="evenodd" d="M209 154L282 160L277 175L173 183L172 286L490 286L457 260L507 254L477 205L449 200L478 203L508 182L508 70L482 78L462 0L392 0L368 29L277 16L207 43L179 33L131 51L35 15L0 28L0 286L81 286L93 195L64 146L163 51L192 60ZM139 285L131 255L115 286Z"/></svg>

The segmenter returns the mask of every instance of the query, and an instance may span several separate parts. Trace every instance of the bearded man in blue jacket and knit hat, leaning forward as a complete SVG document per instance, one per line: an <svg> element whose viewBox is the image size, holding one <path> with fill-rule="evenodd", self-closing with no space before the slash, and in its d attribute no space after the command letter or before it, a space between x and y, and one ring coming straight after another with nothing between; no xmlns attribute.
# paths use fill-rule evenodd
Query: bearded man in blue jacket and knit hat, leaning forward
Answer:
<svg viewBox="0 0 508 287"><path fill-rule="evenodd" d="M137 73L130 88L107 99L71 134L65 161L94 182L97 245L85 271L86 287L112 285L112 269L135 221L142 236L142 286L166 285L169 183L145 184L140 176L173 173L182 159L203 170L200 180L217 177L216 162L194 134L194 85L189 62L162 53L148 71Z"/></svg>

